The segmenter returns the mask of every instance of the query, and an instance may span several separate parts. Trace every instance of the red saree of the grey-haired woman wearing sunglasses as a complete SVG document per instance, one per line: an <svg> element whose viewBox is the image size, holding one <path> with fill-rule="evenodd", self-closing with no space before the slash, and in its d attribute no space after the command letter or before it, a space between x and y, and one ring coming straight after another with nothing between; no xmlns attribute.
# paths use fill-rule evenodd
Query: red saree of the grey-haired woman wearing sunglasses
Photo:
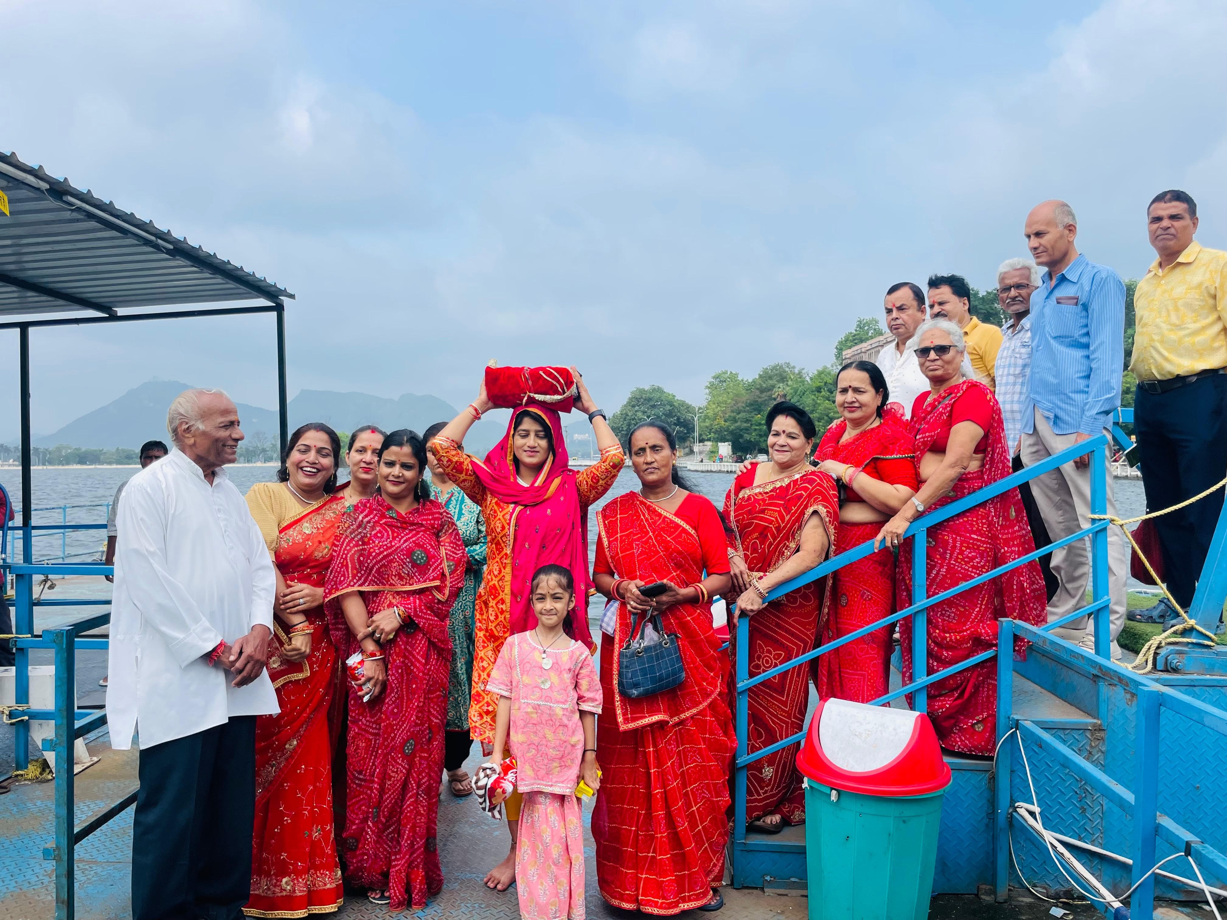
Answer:
<svg viewBox="0 0 1227 920"><path fill-rule="evenodd" d="M984 384L964 380L930 397L924 410L913 412L915 465L944 432L950 433L955 402L971 388ZM993 420L989 423L984 466L969 470L929 509L989 486L1010 475L1001 407L989 391ZM920 520L924 520L921 518ZM1017 489L1010 489L984 504L975 505L928 531L926 594L950 590L977 575L1004 565L1036 548L1031 527ZM899 550L898 605L912 605L912 547L907 540ZM1014 617L1033 626L1047 622L1044 578L1038 562L1011 569L1000 578L955 595L929 607L928 664L925 673L936 673L996 648L996 621ZM912 617L899 623L903 646L903 682L912 677ZM1018 639L1015 654L1022 655L1026 643ZM958 673L929 684L929 718L941 746L969 754L991 754L996 745L996 661L989 659Z"/></svg>

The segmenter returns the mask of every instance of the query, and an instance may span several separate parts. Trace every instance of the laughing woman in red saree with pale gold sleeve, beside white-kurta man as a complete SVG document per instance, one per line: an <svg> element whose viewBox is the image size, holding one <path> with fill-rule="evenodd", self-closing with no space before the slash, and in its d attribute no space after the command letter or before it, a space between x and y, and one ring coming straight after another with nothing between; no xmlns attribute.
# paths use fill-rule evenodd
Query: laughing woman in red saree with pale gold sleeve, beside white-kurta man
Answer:
<svg viewBox="0 0 1227 920"><path fill-rule="evenodd" d="M334 492L340 453L331 428L304 424L290 437L279 482L247 493L277 569L269 677L281 707L255 720L248 916L331 913L342 900L328 726L336 653L324 616L324 578L345 510Z"/></svg>

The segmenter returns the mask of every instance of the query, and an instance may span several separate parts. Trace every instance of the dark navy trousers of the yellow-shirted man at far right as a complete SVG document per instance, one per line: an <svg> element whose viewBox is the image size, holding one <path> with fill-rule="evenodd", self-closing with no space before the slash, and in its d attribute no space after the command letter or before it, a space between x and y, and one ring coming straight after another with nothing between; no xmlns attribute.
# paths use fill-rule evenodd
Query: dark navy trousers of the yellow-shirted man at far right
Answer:
<svg viewBox="0 0 1227 920"><path fill-rule="evenodd" d="M1204 377L1160 394L1139 386L1134 429L1147 512L1171 508L1204 492L1227 475L1227 374ZM1167 590L1185 610L1193 604L1222 507L1220 489L1153 519L1163 547Z"/></svg>

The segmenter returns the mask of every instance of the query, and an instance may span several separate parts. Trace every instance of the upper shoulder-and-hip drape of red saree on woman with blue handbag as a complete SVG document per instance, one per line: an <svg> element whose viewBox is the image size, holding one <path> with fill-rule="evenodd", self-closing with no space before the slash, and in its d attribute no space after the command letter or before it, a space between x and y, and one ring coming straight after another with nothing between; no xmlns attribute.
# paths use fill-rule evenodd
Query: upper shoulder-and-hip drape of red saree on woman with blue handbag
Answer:
<svg viewBox="0 0 1227 920"><path fill-rule="evenodd" d="M663 508L627 492L606 504L596 515L605 540L605 552L618 578L643 581L667 580L685 588L703 580L703 548L694 529ZM614 694L618 727L639 729L652 723L674 725L707 707L720 692L724 672L719 645L712 632L712 605L675 604L665 610L664 627L681 638L686 680L674 689L631 699ZM617 687L618 656L629 637L631 615L618 605L614 627L614 686Z"/></svg>

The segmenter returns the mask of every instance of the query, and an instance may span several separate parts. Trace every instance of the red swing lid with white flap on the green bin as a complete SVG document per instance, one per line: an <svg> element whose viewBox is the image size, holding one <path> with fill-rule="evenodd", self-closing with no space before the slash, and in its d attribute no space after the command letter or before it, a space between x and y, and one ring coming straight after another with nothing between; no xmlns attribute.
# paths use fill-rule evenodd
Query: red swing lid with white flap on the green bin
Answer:
<svg viewBox="0 0 1227 920"><path fill-rule="evenodd" d="M823 699L796 756L815 783L847 792L908 796L950 785L950 764L921 713Z"/></svg>

